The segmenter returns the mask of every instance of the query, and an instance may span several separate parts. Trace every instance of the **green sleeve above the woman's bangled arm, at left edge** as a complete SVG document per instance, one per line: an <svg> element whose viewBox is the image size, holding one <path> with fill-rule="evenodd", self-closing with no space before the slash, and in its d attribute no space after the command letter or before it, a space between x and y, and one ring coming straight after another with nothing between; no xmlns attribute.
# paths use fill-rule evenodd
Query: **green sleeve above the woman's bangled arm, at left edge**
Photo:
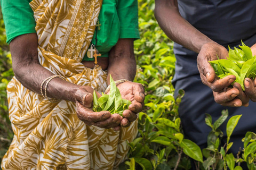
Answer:
<svg viewBox="0 0 256 170"><path fill-rule="evenodd" d="M17 36L36 32L34 12L29 3L30 0L1 0L8 44Z"/></svg>

